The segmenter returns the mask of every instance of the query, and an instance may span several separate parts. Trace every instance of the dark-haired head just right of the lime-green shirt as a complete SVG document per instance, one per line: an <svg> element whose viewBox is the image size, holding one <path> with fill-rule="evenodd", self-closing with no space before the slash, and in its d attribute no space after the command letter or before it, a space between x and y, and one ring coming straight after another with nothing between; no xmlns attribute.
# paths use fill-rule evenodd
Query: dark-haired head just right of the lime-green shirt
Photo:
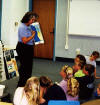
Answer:
<svg viewBox="0 0 100 105"><path fill-rule="evenodd" d="M91 64L86 64L84 66L83 72L84 74L88 75L88 76L92 76L92 74L94 74L95 71L95 67Z"/></svg>

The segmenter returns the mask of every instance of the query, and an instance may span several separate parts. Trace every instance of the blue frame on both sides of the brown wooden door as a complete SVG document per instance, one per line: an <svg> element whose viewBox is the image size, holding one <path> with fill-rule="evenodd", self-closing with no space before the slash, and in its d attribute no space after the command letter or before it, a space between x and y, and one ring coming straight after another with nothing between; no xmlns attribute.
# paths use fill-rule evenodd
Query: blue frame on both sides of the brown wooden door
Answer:
<svg viewBox="0 0 100 105"><path fill-rule="evenodd" d="M33 0L29 0L29 11L32 11L32 1ZM55 39L56 39L56 16L57 16L57 0L55 0L55 28L54 28L54 48L53 48L53 61L56 60L55 57Z"/></svg>

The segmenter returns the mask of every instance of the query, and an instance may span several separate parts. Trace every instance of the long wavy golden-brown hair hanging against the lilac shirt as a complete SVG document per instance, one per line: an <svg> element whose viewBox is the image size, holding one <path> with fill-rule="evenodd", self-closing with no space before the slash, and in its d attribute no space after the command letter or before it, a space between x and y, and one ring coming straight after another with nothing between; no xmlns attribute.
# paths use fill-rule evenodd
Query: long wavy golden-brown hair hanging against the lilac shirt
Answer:
<svg viewBox="0 0 100 105"><path fill-rule="evenodd" d="M75 97L79 92L79 83L75 78L69 78L67 80L67 94Z"/></svg>

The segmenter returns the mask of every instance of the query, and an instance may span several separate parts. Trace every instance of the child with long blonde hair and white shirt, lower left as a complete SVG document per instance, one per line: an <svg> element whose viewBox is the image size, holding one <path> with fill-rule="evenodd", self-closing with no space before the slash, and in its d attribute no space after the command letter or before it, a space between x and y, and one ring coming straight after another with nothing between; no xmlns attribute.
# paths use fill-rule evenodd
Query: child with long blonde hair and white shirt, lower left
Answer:
<svg viewBox="0 0 100 105"><path fill-rule="evenodd" d="M18 87L14 94L14 105L39 105L39 79L31 77L24 87Z"/></svg>

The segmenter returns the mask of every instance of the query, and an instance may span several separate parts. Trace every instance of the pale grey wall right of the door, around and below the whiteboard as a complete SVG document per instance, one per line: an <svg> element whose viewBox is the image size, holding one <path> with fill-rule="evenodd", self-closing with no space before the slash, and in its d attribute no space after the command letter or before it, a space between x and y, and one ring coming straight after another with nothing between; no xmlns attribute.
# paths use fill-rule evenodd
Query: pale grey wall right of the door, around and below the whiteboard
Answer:
<svg viewBox="0 0 100 105"><path fill-rule="evenodd" d="M92 11L92 10L91 10ZM80 53L90 55L93 50L100 52L100 37L68 36L68 49L65 49L67 26L67 0L57 0L55 57L74 58L76 49Z"/></svg>

